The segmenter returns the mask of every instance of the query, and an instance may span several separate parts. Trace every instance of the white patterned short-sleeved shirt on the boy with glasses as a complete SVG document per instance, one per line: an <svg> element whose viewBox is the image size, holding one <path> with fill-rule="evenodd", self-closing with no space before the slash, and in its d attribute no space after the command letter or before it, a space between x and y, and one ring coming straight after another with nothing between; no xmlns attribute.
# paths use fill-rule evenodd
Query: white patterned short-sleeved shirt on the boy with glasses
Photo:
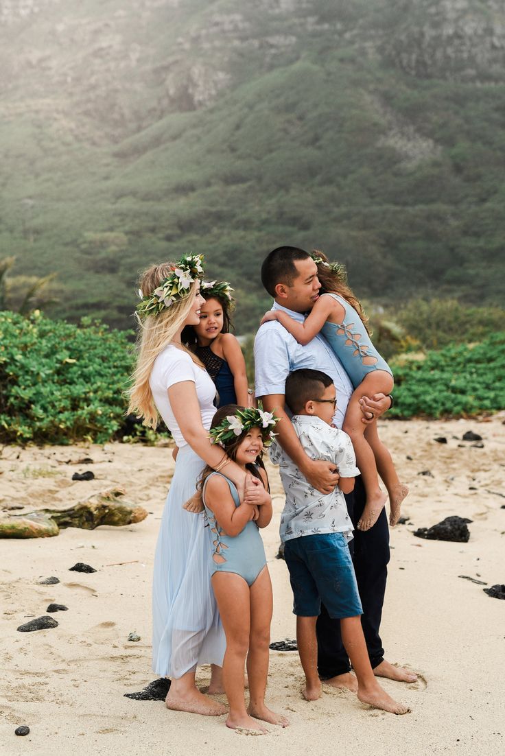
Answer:
<svg viewBox="0 0 505 756"><path fill-rule="evenodd" d="M347 433L311 415L293 415L292 422L308 457L335 463L342 478L355 478L360 474ZM280 540L290 541L317 533L342 533L347 541L351 541L352 522L339 487L336 486L331 494L321 494L317 488L311 487L277 442L269 451L271 461L279 465L286 494L280 516Z"/></svg>

